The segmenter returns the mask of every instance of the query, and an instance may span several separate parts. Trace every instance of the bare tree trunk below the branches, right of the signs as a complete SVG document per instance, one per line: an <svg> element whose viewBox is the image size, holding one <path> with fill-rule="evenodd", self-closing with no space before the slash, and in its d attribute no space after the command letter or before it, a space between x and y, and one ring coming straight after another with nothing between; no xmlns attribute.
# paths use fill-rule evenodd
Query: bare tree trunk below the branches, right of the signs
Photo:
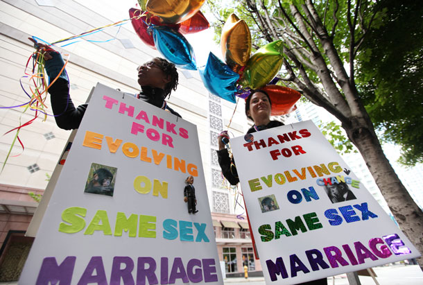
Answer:
<svg viewBox="0 0 423 285"><path fill-rule="evenodd" d="M411 198L406 187L383 153L372 123L365 119L350 118L351 126L344 126L349 139L359 148L370 173L388 202L401 230L423 252L423 212ZM423 257L417 259L423 270Z"/></svg>

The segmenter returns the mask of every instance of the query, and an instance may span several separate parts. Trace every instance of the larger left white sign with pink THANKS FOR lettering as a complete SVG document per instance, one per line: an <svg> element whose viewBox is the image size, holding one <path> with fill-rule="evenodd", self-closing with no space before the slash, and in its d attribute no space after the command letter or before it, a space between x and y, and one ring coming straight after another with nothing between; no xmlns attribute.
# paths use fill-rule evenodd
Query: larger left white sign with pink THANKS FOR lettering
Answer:
<svg viewBox="0 0 423 285"><path fill-rule="evenodd" d="M96 86L19 280L57 282L223 284L196 126Z"/></svg>

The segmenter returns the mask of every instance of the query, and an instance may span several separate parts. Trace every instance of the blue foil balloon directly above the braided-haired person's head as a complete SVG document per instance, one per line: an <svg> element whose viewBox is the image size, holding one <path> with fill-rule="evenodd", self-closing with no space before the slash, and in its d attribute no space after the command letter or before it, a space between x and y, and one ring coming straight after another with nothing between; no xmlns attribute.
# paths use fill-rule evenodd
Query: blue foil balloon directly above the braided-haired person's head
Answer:
<svg viewBox="0 0 423 285"><path fill-rule="evenodd" d="M150 26L157 51L183 69L197 70L196 57L188 40L166 26Z"/></svg>

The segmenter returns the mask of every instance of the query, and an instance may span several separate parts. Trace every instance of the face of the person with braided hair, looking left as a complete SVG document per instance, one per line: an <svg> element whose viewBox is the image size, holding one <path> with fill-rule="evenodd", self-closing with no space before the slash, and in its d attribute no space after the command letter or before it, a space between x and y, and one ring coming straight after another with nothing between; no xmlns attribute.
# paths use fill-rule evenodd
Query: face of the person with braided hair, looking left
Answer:
<svg viewBox="0 0 423 285"><path fill-rule="evenodd" d="M151 86L164 89L169 83L170 76L167 76L161 69L160 60L153 59L140 65L138 71L138 84L141 86Z"/></svg>

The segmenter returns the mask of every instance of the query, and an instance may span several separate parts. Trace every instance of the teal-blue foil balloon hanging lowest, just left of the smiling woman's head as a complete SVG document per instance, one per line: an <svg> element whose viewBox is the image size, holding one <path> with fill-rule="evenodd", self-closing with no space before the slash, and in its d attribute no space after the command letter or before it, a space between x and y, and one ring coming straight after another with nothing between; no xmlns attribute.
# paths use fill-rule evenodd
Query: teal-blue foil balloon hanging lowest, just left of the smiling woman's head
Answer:
<svg viewBox="0 0 423 285"><path fill-rule="evenodd" d="M200 67L198 71L200 71L202 83L210 93L236 103L234 94L237 91L236 81L239 79L239 74L232 71L213 53L209 53L207 64L205 67Z"/></svg>

